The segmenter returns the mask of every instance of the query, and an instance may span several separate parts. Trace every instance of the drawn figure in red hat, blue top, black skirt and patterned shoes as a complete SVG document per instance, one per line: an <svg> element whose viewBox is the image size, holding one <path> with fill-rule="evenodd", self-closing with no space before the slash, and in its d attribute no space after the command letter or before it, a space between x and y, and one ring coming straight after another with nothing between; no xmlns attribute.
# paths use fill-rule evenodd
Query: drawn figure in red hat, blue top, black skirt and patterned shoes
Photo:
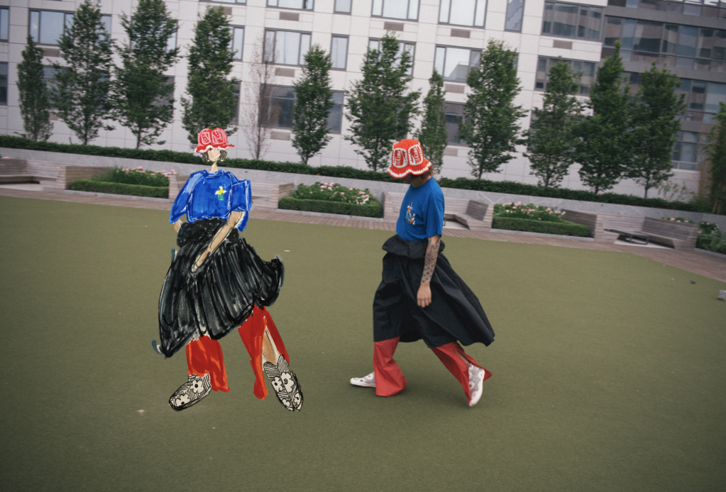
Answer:
<svg viewBox="0 0 726 492"><path fill-rule="evenodd" d="M290 370L290 357L266 306L272 306L285 279L282 259L264 261L239 231L252 205L250 181L219 171L227 157L227 134L205 128L197 149L210 171L189 176L171 207L179 253L171 263L159 298L159 336L152 347L171 357L187 353L188 380L169 398L171 408L189 408L215 391L229 391L219 339L238 328L250 355L254 394L265 398L264 375L286 409L300 411L303 393ZM181 222L181 216L187 222Z"/></svg>

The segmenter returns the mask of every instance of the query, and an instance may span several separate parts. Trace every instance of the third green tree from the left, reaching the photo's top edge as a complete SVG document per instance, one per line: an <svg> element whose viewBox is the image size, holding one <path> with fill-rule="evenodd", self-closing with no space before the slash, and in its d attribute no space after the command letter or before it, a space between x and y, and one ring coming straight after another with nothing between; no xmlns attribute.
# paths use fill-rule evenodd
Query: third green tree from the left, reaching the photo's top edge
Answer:
<svg viewBox="0 0 726 492"><path fill-rule="evenodd" d="M139 0L131 18L121 15L129 43L117 49L111 116L136 136L136 148L152 145L174 118L174 86L164 72L179 59L179 49L167 49L176 20L162 0Z"/></svg>

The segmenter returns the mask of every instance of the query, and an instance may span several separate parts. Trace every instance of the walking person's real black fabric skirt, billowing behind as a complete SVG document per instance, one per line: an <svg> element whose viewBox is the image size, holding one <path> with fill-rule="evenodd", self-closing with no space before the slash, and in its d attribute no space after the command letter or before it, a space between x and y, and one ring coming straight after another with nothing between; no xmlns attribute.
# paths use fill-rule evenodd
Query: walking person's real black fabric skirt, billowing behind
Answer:
<svg viewBox="0 0 726 492"><path fill-rule="evenodd" d="M478 298L452 268L439 247L431 277L431 304L416 302L428 241L407 241L398 235L383 245L383 279L373 300L373 339L401 337L421 340L430 348L459 341L463 345L494 341L494 329Z"/></svg>

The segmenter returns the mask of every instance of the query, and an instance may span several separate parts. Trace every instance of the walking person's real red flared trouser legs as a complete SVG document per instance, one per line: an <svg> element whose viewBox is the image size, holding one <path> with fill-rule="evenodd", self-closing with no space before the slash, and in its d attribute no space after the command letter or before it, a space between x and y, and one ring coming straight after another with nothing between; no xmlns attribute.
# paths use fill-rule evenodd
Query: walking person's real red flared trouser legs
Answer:
<svg viewBox="0 0 726 492"><path fill-rule="evenodd" d="M373 372L375 372L375 394L378 396L393 396L406 388L408 382L404 373L401 372L399 364L393 360L393 353L399 345L399 338L383 340L374 343L373 348ZM481 367L477 362L465 353L464 349L457 342L447 343L440 347L434 347L433 353L444 363L464 388L467 401L470 400L469 393L469 364ZM482 367L482 369L484 369ZM487 371L489 372L489 371Z"/></svg>

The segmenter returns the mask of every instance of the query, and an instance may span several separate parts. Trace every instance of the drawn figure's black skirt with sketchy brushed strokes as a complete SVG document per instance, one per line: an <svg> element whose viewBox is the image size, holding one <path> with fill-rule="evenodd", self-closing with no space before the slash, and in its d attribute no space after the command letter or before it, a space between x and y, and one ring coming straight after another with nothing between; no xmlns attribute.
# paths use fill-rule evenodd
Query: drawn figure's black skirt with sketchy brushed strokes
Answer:
<svg viewBox="0 0 726 492"><path fill-rule="evenodd" d="M232 229L202 266L192 271L225 221L219 218L182 224L181 248L166 274L159 298L161 352L171 357L196 335L219 340L252 313L271 306L285 280L282 259L264 261Z"/></svg>

